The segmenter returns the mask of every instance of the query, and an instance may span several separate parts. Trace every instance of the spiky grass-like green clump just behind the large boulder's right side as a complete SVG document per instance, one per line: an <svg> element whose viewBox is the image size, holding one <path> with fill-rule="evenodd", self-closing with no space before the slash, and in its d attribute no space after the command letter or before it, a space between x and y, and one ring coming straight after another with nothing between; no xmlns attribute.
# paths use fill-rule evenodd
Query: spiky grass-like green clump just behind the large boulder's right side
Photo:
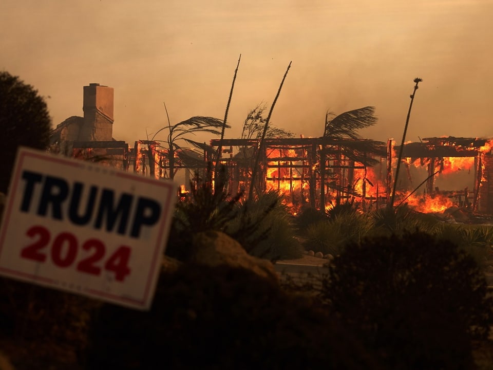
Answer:
<svg viewBox="0 0 493 370"><path fill-rule="evenodd" d="M239 216L231 219L225 232L240 242L249 254L270 260L299 258L302 247L296 238L292 216L282 197L274 191L241 204ZM244 225L255 225L249 232Z"/></svg>

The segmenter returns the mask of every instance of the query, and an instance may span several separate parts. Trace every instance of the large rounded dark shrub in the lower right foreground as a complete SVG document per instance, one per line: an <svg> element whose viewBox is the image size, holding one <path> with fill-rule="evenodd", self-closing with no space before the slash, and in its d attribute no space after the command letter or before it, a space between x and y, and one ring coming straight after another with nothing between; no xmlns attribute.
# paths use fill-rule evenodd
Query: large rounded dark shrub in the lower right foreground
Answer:
<svg viewBox="0 0 493 370"><path fill-rule="evenodd" d="M487 338L493 301L475 261L422 232L346 246L322 297L393 369L472 368L471 341Z"/></svg>

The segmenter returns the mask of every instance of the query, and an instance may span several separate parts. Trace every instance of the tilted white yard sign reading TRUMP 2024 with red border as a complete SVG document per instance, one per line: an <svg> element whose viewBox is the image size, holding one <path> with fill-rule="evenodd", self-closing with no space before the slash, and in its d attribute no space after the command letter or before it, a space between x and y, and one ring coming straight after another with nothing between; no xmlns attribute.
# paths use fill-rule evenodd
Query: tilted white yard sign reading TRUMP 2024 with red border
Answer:
<svg viewBox="0 0 493 370"><path fill-rule="evenodd" d="M171 181L21 148L0 274L148 309L175 198Z"/></svg>

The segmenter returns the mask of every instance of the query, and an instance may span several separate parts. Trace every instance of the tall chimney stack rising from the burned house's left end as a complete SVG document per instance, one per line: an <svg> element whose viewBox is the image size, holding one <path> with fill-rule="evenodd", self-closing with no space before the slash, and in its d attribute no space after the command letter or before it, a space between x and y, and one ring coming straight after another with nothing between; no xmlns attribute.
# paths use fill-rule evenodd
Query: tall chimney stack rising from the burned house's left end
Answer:
<svg viewBox="0 0 493 370"><path fill-rule="evenodd" d="M91 83L84 86L84 124L80 141L111 141L113 135L113 88Z"/></svg>

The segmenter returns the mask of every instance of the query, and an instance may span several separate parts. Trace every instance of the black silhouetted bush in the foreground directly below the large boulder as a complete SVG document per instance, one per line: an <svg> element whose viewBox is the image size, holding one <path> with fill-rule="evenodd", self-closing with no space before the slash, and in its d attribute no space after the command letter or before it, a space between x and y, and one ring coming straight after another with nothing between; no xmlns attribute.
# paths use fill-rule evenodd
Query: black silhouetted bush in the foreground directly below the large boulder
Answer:
<svg viewBox="0 0 493 370"><path fill-rule="evenodd" d="M313 300L228 266L184 264L149 312L105 305L97 319L88 369L381 368Z"/></svg>

